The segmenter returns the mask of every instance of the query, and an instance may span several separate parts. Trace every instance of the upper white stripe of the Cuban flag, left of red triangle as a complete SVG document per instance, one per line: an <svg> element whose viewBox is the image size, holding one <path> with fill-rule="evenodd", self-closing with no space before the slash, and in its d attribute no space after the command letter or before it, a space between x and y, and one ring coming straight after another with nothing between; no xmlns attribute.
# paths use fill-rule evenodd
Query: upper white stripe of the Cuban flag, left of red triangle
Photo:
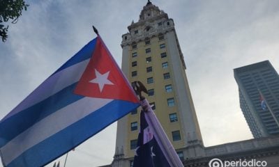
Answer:
<svg viewBox="0 0 279 167"><path fill-rule="evenodd" d="M13 111L3 118L3 120L15 115L15 113L27 109L29 106L33 106L34 104L47 99L47 97L58 93L63 88L66 88L67 86L79 81L89 61L90 58L67 67L66 69L61 70L46 79L43 84L40 84L40 86L38 86L38 88L36 88L33 93L31 93L24 101L22 101L22 103L16 106Z"/></svg>

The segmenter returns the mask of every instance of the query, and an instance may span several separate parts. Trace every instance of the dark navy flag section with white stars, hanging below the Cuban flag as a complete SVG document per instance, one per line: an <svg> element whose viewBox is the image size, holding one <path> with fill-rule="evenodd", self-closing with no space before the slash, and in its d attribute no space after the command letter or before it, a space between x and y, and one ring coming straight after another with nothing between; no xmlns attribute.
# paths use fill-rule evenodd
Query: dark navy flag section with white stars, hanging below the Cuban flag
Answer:
<svg viewBox="0 0 279 167"><path fill-rule="evenodd" d="M140 113L140 133L135 149L134 167L170 167L153 131L146 122L144 111Z"/></svg>

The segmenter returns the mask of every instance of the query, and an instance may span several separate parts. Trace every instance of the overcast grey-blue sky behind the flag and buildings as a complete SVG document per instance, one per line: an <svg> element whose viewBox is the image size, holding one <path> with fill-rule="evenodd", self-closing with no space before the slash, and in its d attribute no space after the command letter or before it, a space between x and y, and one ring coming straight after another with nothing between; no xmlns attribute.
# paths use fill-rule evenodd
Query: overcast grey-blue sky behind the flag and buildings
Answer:
<svg viewBox="0 0 279 167"><path fill-rule="evenodd" d="M252 138L239 108L233 69L269 60L279 70L279 1L151 2L174 19L204 145ZM28 10L10 25L8 40L0 42L0 118L96 37L92 25L121 65L121 35L132 20L138 21L146 1L27 3ZM110 164L115 139L114 123L70 152L66 166ZM64 159L56 161L63 164Z"/></svg>

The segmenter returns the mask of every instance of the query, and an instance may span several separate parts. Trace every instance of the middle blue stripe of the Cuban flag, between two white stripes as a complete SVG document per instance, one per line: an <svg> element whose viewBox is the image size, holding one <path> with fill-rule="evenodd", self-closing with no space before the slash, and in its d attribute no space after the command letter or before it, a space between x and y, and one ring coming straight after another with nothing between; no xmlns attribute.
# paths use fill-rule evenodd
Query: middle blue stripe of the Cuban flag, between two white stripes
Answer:
<svg viewBox="0 0 279 167"><path fill-rule="evenodd" d="M43 100L42 102L39 102L1 122L0 134L6 134L6 141L0 140L0 148L36 122L43 120L43 118L64 106L82 99L84 96L73 94L76 85L77 83L72 84L59 91L59 93L48 97L46 100ZM11 129L10 127L16 127L16 129Z"/></svg>

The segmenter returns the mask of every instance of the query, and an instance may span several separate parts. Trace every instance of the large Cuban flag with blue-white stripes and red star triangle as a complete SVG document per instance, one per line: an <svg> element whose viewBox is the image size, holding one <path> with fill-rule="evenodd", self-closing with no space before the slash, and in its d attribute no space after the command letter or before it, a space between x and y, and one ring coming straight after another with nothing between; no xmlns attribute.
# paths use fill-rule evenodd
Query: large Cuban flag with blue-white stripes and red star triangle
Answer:
<svg viewBox="0 0 279 167"><path fill-rule="evenodd" d="M1 120L3 166L44 166L139 105L98 36Z"/></svg>

